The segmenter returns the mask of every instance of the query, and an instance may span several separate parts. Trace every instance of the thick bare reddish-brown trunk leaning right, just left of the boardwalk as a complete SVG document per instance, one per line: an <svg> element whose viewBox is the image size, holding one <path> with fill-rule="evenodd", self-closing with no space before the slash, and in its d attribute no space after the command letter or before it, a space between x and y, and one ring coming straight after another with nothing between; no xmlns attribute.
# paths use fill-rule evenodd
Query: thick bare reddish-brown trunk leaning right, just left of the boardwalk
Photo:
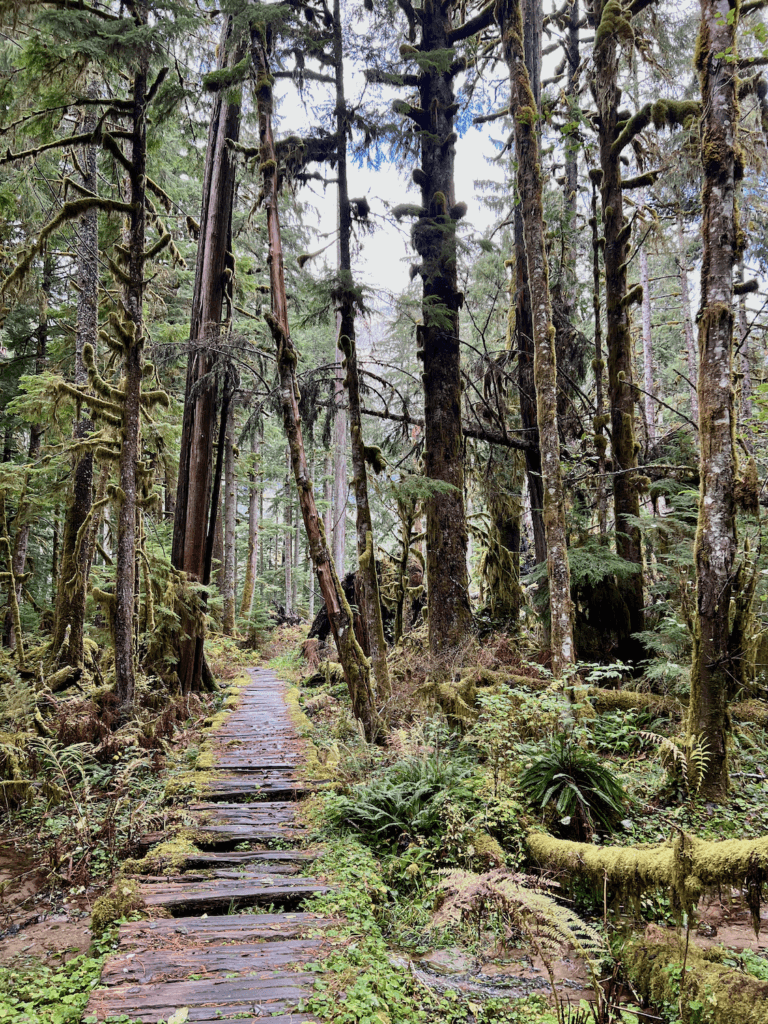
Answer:
<svg viewBox="0 0 768 1024"><path fill-rule="evenodd" d="M224 24L218 68L231 68L243 59L246 43L236 38L231 16ZM203 182L203 209L195 272L186 370L184 416L173 524L172 561L193 580L202 581L211 494L211 464L216 428L216 361L214 343L219 336L224 298L231 281L231 211L234 195L236 156L227 140L238 141L241 104L230 89L217 92L208 131ZM203 637L191 622L184 623L179 680L183 692L200 689L203 676Z"/></svg>

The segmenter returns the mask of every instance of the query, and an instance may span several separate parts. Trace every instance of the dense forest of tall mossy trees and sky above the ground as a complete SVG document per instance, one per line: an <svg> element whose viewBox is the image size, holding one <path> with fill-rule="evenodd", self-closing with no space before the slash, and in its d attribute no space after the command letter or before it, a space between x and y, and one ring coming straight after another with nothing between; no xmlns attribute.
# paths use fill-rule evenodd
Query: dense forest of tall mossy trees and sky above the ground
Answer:
<svg viewBox="0 0 768 1024"><path fill-rule="evenodd" d="M31 737L152 746L212 640L279 623L360 741L417 690L476 728L514 676L563 742L588 696L669 714L680 794L732 798L768 724L763 6L2 5L9 807Z"/></svg>

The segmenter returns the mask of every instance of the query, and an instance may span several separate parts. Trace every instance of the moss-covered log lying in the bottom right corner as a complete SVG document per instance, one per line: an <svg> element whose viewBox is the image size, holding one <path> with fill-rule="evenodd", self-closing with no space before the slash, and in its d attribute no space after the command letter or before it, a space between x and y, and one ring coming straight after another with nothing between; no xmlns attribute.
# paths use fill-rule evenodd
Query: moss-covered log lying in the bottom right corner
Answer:
<svg viewBox="0 0 768 1024"><path fill-rule="evenodd" d="M683 964L683 1001L698 1005L699 1024L765 1024L768 982L758 981L716 961L717 950L701 952L650 926L642 938L628 943L622 961L629 980L651 1007L677 1007ZM685 1019L685 1018L684 1018Z"/></svg>

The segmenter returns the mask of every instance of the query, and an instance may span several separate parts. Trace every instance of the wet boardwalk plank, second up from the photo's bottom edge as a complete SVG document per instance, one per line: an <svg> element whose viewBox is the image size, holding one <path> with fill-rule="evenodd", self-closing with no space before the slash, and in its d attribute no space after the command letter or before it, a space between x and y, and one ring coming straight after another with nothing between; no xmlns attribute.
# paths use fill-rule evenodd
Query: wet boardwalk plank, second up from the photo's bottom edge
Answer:
<svg viewBox="0 0 768 1024"><path fill-rule="evenodd" d="M145 985L159 981L186 981L193 975L205 978L247 975L254 971L278 971L306 964L323 955L322 939L283 939L275 942L209 943L185 949L152 949L138 946L131 952L111 956L101 973L101 984Z"/></svg>

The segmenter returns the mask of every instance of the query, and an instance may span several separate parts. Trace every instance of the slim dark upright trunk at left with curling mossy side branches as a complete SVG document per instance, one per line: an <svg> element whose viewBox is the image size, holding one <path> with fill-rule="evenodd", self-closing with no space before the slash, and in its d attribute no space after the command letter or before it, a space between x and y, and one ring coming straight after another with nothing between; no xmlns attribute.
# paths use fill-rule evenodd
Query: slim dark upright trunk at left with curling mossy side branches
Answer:
<svg viewBox="0 0 768 1024"><path fill-rule="evenodd" d="M146 8L133 8L137 26L146 24ZM146 75L148 55L141 54L133 77L130 164L132 210L127 231L128 282L123 291L124 404L120 447L118 544L115 572L115 684L121 715L133 708L135 690L134 616L136 610L136 512L141 455L141 377L143 369L144 224L146 220Z"/></svg>

